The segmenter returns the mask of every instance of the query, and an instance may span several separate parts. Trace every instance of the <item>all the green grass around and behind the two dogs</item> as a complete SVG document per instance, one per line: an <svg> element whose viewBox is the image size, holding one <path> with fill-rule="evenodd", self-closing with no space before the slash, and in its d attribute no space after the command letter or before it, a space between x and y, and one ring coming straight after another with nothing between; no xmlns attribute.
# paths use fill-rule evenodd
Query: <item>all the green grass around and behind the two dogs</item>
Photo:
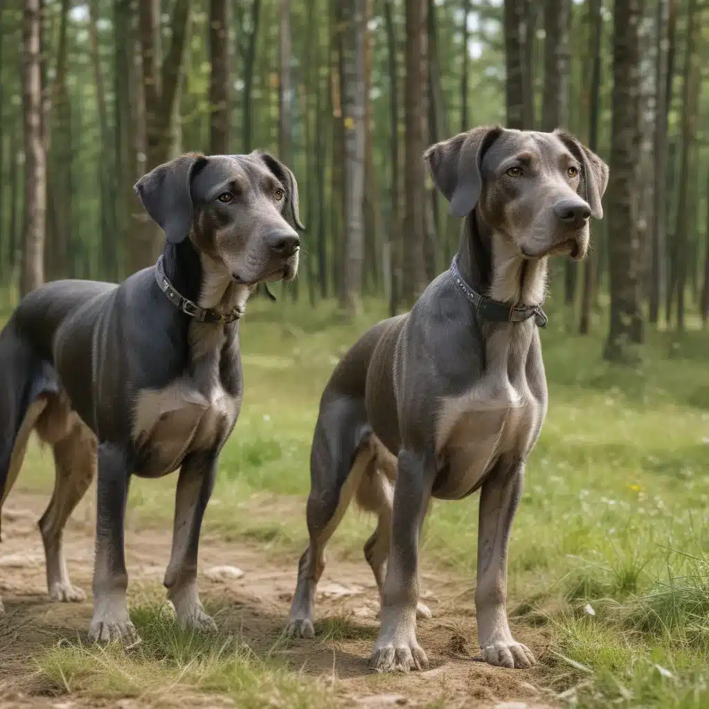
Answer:
<svg viewBox="0 0 709 709"><path fill-rule="evenodd" d="M368 316L350 325L326 306L250 304L244 403L221 459L210 532L291 554L301 549L304 516L281 503L296 496L304 510L320 393L337 358L383 315L379 308L367 303ZM642 364L625 369L602 361L600 335L569 335L564 314L552 307L549 315L542 332L549 413L527 465L509 559L510 608L552 637L537 679L582 707L709 705L709 335L648 333ZM24 486L47 488L46 459L30 452L35 472L23 476ZM174 479L136 481L130 523L164 525L173 486ZM256 513L239 515L247 500ZM472 579L476 525L474 498L436 503L423 563L435 559ZM347 515L334 543L359 556L371 526ZM137 654L74 644L53 650L43 668L91 691L96 682L110 691L119 675L139 689L141 673L155 670L164 681L244 691L255 702L274 687L291 692L294 681L293 691L311 700L308 683L263 664L236 640L193 644L172 626L162 634L146 613ZM322 623L333 639L362 637L348 618ZM114 664L112 680L105 669ZM288 705L298 706L299 696Z"/></svg>

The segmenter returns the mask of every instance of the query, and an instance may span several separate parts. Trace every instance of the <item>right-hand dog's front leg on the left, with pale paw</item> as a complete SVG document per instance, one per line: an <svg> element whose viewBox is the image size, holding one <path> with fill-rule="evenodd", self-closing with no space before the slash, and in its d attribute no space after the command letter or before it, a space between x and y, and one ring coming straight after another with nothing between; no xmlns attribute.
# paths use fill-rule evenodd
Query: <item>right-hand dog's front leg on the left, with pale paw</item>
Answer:
<svg viewBox="0 0 709 709"><path fill-rule="evenodd" d="M381 627L370 666L379 671L422 669L428 658L416 641L418 539L435 476L432 454L398 454L391 551L381 598Z"/></svg>

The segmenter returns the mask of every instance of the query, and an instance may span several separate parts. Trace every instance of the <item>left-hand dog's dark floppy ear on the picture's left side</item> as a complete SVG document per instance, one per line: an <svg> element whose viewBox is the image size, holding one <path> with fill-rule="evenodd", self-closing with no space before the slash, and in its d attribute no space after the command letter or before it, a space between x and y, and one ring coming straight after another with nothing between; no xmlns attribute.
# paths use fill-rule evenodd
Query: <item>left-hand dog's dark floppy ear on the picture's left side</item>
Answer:
<svg viewBox="0 0 709 709"><path fill-rule="evenodd" d="M196 169L206 162L196 152L180 155L143 175L133 187L145 211L172 244L183 241L192 228L190 187Z"/></svg>

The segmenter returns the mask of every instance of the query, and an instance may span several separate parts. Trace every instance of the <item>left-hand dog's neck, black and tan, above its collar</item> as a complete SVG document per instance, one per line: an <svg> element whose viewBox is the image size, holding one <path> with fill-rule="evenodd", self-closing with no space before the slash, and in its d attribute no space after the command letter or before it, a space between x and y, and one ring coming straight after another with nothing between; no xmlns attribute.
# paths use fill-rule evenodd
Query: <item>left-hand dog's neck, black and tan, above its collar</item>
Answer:
<svg viewBox="0 0 709 709"><path fill-rule="evenodd" d="M165 242L162 249L165 275L180 295L200 308L218 313L244 310L252 287L235 284L216 259L200 252L190 238L179 244Z"/></svg>

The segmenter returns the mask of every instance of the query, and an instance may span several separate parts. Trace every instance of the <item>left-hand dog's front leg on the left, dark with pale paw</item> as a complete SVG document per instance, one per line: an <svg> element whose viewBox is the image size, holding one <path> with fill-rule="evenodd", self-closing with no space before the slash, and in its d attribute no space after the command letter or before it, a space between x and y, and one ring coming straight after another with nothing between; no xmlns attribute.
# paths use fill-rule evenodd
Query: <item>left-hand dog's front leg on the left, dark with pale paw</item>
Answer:
<svg viewBox="0 0 709 709"><path fill-rule="evenodd" d="M128 496L128 457L125 449L101 443L98 452L99 480L96 506L96 557L94 559L94 617L91 640L108 642L133 639L135 627L130 622L125 589L123 526L125 500Z"/></svg>

